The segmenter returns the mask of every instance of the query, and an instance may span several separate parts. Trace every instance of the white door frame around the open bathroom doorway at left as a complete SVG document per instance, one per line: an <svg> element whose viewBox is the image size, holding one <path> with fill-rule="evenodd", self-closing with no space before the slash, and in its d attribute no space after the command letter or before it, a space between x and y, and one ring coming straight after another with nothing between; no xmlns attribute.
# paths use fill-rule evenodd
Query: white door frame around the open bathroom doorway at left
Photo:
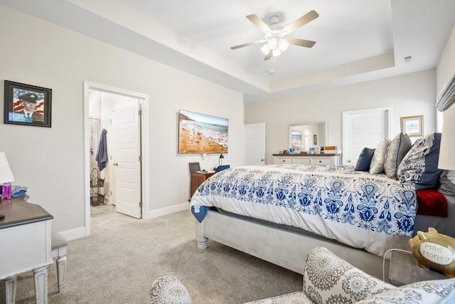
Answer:
<svg viewBox="0 0 455 304"><path fill-rule="evenodd" d="M142 219L147 219L147 214L150 201L150 189L149 187L144 187L148 185L150 181L150 172L146 170L149 168L150 156L149 153L146 153L146 150L149 149L149 95L132 92L129 90L124 90L120 88L110 87L109 85L102 85L100 83L91 83L84 81L84 105L83 105L83 120L84 120L84 197L85 197L85 236L90 235L90 142L89 142L89 105L88 105L88 96L89 90L97 90L105 93L112 93L116 95L124 95L129 98L137 98L143 102L141 110L141 126L140 126L140 138L141 138L141 196L142 196Z"/></svg>

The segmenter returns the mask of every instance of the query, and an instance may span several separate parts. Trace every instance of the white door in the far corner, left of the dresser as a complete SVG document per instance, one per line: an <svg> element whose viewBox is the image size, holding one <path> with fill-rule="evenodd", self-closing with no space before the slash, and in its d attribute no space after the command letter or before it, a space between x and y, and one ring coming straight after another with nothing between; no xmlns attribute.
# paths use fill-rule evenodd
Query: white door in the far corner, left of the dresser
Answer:
<svg viewBox="0 0 455 304"><path fill-rule="evenodd" d="M245 165L265 164L265 122L245 125Z"/></svg>

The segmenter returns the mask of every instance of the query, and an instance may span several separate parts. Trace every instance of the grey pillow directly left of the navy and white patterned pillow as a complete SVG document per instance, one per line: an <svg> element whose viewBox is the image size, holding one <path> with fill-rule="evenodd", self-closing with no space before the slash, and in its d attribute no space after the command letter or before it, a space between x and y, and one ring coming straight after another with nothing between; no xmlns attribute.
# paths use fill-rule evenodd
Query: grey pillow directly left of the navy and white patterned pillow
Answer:
<svg viewBox="0 0 455 304"><path fill-rule="evenodd" d="M411 149L412 142L410 137L401 132L390 142L389 149L385 156L384 170L387 177L397 179L397 169L400 166L402 159Z"/></svg>

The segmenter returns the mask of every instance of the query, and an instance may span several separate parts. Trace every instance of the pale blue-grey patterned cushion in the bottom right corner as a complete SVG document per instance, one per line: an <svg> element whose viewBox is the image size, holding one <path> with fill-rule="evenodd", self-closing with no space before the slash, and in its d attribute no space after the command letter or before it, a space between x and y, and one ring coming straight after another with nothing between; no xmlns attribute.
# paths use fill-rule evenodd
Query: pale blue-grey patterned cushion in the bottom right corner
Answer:
<svg viewBox="0 0 455 304"><path fill-rule="evenodd" d="M357 304L454 303L454 290L455 278L423 281L385 290Z"/></svg>

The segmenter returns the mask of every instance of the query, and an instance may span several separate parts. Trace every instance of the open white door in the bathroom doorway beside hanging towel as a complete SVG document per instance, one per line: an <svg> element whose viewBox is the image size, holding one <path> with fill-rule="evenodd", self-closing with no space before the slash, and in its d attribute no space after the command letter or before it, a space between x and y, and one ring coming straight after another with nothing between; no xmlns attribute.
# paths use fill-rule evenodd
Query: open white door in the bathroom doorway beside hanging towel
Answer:
<svg viewBox="0 0 455 304"><path fill-rule="evenodd" d="M141 141L139 100L115 107L117 155L115 166L115 210L141 218Z"/></svg>

